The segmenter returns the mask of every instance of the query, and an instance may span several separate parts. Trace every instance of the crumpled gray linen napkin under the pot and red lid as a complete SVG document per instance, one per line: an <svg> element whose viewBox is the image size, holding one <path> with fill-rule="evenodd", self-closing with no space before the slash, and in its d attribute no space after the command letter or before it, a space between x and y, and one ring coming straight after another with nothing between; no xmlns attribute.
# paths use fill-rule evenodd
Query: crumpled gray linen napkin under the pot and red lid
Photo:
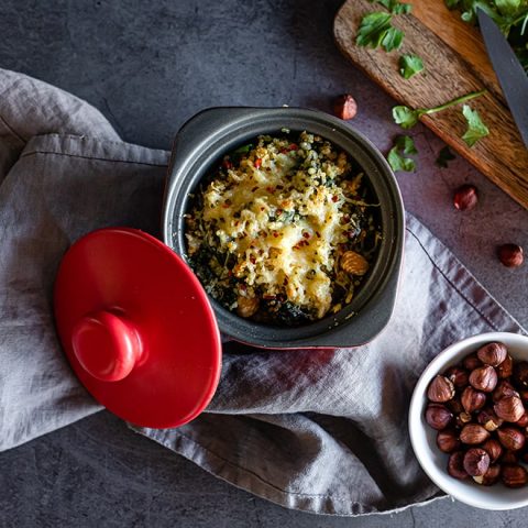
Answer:
<svg viewBox="0 0 528 528"><path fill-rule="evenodd" d="M57 341L54 277L94 229L158 234L167 161L122 142L72 95L0 70L0 450L100 409ZM179 429L136 430L289 508L402 508L440 496L407 436L413 386L448 343L490 330L522 331L409 216L394 316L372 343L290 352L226 343L207 413Z"/></svg>

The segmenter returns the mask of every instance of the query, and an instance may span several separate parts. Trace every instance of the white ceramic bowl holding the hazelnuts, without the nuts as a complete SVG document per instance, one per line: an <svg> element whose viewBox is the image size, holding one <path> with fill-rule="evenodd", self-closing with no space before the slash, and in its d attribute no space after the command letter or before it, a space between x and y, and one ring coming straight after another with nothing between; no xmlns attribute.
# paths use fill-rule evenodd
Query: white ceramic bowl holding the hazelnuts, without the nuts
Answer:
<svg viewBox="0 0 528 528"><path fill-rule="evenodd" d="M481 486L472 479L459 481L450 476L447 472L449 455L437 448L437 431L429 427L425 419L426 392L431 380L491 341L504 343L514 360L528 361L528 337L517 333L481 333L448 346L431 361L416 384L409 408L410 442L421 468L431 481L461 503L484 509L520 508L528 506L528 486L516 490L502 483Z"/></svg>

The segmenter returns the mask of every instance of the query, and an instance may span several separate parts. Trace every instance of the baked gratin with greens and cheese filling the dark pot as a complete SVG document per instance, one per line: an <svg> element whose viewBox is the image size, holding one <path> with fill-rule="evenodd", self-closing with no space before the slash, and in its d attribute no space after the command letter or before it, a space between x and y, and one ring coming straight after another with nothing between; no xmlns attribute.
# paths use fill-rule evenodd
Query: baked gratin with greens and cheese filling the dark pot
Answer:
<svg viewBox="0 0 528 528"><path fill-rule="evenodd" d="M340 148L308 133L261 135L191 196L187 258L206 292L253 320L297 326L338 312L381 240L377 205Z"/></svg>

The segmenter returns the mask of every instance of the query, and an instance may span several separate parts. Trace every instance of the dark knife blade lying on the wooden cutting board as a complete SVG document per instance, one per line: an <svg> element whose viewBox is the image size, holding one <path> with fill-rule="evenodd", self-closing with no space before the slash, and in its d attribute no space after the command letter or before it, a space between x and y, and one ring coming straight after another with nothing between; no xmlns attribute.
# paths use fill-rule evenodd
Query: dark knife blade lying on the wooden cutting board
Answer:
<svg viewBox="0 0 528 528"><path fill-rule="evenodd" d="M497 24L482 9L477 9L477 15L487 55L522 141L528 147L528 76Z"/></svg>

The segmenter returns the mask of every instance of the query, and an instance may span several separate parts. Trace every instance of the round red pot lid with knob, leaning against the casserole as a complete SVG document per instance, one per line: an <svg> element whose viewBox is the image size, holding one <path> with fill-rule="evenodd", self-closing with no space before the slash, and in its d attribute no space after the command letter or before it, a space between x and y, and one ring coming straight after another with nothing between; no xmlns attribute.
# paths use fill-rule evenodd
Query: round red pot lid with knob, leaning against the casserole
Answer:
<svg viewBox="0 0 528 528"><path fill-rule="evenodd" d="M182 426L215 394L212 308L190 268L150 234L101 229L77 241L58 270L55 319L79 380L124 420Z"/></svg>

